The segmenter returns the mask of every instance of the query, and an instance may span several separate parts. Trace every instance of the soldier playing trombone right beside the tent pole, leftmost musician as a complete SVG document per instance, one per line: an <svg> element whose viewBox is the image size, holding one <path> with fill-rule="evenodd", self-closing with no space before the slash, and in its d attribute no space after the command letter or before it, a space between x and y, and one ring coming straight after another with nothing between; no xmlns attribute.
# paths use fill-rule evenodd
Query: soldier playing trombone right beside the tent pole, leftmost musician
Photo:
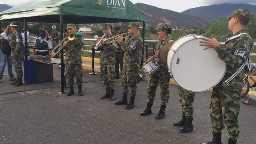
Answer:
<svg viewBox="0 0 256 144"><path fill-rule="evenodd" d="M75 35L75 25L67 24L68 32ZM67 38L66 38L67 39ZM77 77L78 95L82 96L82 57L81 48L83 47L82 40L77 36L74 41L66 41L65 38L61 41L59 47L65 48L65 77L68 79L70 90L67 96L74 94L74 76Z"/></svg>

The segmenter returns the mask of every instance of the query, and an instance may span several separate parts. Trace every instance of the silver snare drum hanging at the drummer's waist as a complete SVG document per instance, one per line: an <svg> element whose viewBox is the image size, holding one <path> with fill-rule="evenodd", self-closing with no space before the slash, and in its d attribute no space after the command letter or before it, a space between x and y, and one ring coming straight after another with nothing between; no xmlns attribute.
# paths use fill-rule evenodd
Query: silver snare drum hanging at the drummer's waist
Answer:
<svg viewBox="0 0 256 144"><path fill-rule="evenodd" d="M151 61L145 65L141 71L139 71L139 75L142 79L146 79L148 76L151 76L151 74L155 73L160 68L160 65L156 60Z"/></svg>

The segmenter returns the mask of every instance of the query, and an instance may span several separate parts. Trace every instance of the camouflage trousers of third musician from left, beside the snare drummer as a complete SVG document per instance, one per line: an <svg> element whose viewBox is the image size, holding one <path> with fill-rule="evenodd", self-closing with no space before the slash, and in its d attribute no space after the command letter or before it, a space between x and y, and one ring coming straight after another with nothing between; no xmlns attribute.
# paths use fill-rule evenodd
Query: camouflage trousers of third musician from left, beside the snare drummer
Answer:
<svg viewBox="0 0 256 144"><path fill-rule="evenodd" d="M123 94L128 94L129 88L131 88L131 96L135 97L137 90L137 73L138 70L127 70L126 68L123 69L121 78Z"/></svg>

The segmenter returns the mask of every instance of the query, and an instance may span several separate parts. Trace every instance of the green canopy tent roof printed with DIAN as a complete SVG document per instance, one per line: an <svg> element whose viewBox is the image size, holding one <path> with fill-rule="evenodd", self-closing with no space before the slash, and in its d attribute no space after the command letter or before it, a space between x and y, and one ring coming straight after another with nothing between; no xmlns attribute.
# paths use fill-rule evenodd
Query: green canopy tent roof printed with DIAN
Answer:
<svg viewBox="0 0 256 144"><path fill-rule="evenodd" d="M32 0L0 13L0 20L90 24L145 21L145 14L129 0Z"/></svg>

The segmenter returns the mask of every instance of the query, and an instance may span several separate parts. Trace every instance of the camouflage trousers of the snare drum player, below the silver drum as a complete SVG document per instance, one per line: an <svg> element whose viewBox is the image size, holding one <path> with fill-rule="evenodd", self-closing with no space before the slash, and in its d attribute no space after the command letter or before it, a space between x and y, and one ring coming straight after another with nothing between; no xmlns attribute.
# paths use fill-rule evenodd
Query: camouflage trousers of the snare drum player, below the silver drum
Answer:
<svg viewBox="0 0 256 144"><path fill-rule="evenodd" d="M170 73L168 71L156 71L149 76L147 82L147 102L153 103L156 96L156 88L160 84L161 92L161 105L166 106L169 100L169 81Z"/></svg>

